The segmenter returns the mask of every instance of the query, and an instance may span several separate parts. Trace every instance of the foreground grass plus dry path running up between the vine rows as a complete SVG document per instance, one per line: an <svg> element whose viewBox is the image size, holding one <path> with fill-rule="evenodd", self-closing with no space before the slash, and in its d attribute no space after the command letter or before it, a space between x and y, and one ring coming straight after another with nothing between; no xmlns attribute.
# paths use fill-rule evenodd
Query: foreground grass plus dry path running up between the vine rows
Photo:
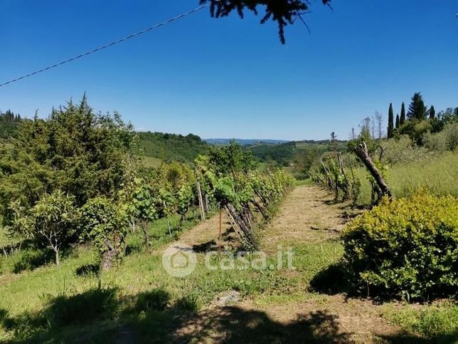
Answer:
<svg viewBox="0 0 458 344"><path fill-rule="evenodd" d="M206 269L204 254L218 241L218 216L197 224L192 214L172 239L166 221L150 226L151 254L129 235L128 255L112 271L98 273L87 246L70 251L60 267L50 262L21 273L11 270L23 256L11 256L2 261L0 275L0 338L8 343L450 343L458 308L448 301L380 304L351 296L334 265L342 254L339 231L351 216L323 190L296 187L261 235L266 269ZM174 217L171 225L177 224ZM178 238L198 252L196 271L186 278L169 276L161 265L164 248ZM295 270L270 268L277 262L277 246L292 247ZM218 264L224 256L215 259ZM219 303L234 292L232 302Z"/></svg>

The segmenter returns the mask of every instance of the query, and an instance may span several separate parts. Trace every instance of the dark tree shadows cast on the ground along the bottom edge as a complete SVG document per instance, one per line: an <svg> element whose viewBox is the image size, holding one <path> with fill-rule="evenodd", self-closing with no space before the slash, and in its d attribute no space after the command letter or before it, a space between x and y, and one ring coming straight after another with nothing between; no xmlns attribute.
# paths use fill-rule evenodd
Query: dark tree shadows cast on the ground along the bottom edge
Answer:
<svg viewBox="0 0 458 344"><path fill-rule="evenodd" d="M339 317L327 311L279 322L238 306L197 311L196 298L171 302L165 289L122 296L116 288L93 288L72 296L49 296L38 313L10 317L0 309L4 343L353 343ZM388 343L451 343L452 336L422 339L379 335ZM448 341L447 341L448 340ZM1 341L0 341L1 343Z"/></svg>

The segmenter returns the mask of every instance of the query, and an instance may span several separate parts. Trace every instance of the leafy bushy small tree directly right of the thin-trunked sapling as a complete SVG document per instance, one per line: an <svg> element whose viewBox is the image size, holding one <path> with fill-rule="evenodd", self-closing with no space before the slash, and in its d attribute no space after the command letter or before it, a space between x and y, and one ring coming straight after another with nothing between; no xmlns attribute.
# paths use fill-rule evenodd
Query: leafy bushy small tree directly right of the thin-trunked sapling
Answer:
<svg viewBox="0 0 458 344"><path fill-rule="evenodd" d="M106 197L90 199L81 209L80 228L82 239L93 241L102 255L102 270L110 269L125 244L127 214Z"/></svg>

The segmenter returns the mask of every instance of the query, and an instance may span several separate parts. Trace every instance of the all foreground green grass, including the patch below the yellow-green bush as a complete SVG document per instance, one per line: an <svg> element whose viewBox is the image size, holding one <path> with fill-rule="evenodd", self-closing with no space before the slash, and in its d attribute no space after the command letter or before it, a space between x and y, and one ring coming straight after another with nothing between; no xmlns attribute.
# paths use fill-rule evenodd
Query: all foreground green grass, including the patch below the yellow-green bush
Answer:
<svg viewBox="0 0 458 344"><path fill-rule="evenodd" d="M198 254L196 270L190 276L173 278L162 267L161 252L181 234L176 229L178 222L178 217L171 218L172 237L164 219L149 227L152 254L144 250L138 234L129 234L127 256L106 272L97 271L97 258L89 246L70 251L60 266L49 261L21 273L12 272L20 254L2 258L0 262L9 264L0 271L0 343L68 343L75 338L106 343L123 336L127 342L166 343L182 325L183 317L208 306L225 291L238 291L261 306L311 301L329 303L329 307L332 301L328 294L344 291L339 269L343 248L336 240L277 242L285 249L292 247L294 271L277 271L275 253L267 256L265 269L227 271L206 269L203 254ZM182 230L195 223L188 214ZM214 263L224 258L216 257ZM423 306L427 316L410 306L403 306L402 312L391 304L384 307L386 319L422 337L428 333L449 335L456 327L456 307L451 305ZM235 318L243 316L246 313ZM262 319L266 330L279 326ZM256 335L252 329L246 331ZM304 333L304 328L298 331Z"/></svg>

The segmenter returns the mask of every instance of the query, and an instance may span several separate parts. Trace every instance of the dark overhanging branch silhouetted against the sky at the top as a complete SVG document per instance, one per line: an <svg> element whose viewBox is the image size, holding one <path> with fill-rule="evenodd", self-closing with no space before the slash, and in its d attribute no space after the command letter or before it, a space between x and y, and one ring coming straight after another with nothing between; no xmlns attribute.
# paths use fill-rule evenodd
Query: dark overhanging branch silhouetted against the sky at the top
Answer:
<svg viewBox="0 0 458 344"><path fill-rule="evenodd" d="M301 14L309 11L309 1L301 0L200 0L200 4L210 1L211 16L216 18L228 16L232 11L237 11L240 18L243 18L243 11L248 9L257 15L257 6L265 6L265 15L261 24L272 19L278 23L278 34L280 41L284 44L284 26L293 24L298 18L302 20ZM321 0L323 4L329 5L331 0Z"/></svg>

